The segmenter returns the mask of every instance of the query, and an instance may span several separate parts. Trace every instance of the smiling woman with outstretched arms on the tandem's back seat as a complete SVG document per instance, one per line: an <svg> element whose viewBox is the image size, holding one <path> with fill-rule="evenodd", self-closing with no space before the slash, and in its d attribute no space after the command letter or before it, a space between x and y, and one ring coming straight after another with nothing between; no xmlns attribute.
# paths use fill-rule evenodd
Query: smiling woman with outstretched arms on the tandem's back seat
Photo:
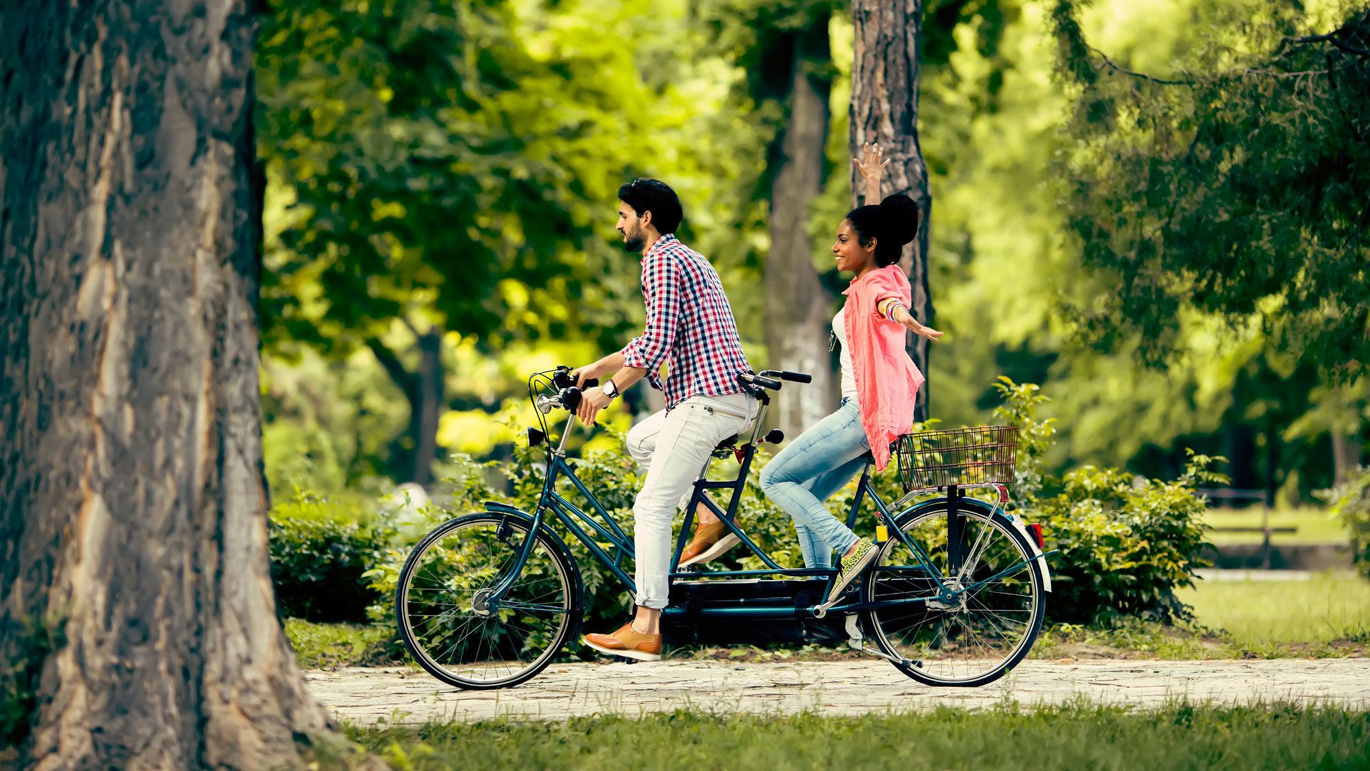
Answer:
<svg viewBox="0 0 1370 771"><path fill-rule="evenodd" d="M870 564L875 545L858 538L823 501L862 469L866 453L882 471L891 442L912 427L923 375L904 350L904 329L929 340L943 335L908 311L911 291L899 257L918 235L918 207L906 195L881 200L880 180L889 163L881 156L878 144L867 144L864 158L852 159L866 180L866 206L847 214L833 241L837 270L855 274L843 292L843 309L833 317L832 339L841 346L841 406L762 472L762 490L795 519L804 567L826 568L833 550L841 554L829 601Z"/></svg>

